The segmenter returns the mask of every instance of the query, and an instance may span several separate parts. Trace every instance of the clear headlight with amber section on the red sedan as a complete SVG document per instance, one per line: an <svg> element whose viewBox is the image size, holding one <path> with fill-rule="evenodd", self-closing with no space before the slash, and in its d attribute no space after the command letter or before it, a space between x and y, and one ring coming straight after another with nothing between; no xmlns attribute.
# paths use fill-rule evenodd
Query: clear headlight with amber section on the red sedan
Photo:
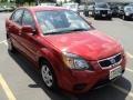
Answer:
<svg viewBox="0 0 133 100"><path fill-rule="evenodd" d="M63 61L70 69L90 68L89 63L84 59L73 53L63 52Z"/></svg>

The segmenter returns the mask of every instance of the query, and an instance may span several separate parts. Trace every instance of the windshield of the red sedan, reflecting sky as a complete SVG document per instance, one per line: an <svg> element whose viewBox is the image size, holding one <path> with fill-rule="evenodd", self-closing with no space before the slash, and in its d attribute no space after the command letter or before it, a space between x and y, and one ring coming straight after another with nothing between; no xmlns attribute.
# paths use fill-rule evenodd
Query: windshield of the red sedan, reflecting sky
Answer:
<svg viewBox="0 0 133 100"><path fill-rule="evenodd" d="M43 34L91 29L80 16L70 10L38 11L35 16Z"/></svg>

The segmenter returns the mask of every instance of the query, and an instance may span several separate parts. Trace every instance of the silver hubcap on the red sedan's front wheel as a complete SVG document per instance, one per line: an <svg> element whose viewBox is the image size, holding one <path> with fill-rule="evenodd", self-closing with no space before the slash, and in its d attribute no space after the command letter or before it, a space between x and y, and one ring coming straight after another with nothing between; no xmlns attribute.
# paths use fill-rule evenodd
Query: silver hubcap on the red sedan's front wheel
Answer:
<svg viewBox="0 0 133 100"><path fill-rule="evenodd" d="M42 74L42 79L43 79L44 83L48 87L51 87L53 83L53 78L52 78L52 73L51 73L50 69L47 66L42 66L41 74Z"/></svg>

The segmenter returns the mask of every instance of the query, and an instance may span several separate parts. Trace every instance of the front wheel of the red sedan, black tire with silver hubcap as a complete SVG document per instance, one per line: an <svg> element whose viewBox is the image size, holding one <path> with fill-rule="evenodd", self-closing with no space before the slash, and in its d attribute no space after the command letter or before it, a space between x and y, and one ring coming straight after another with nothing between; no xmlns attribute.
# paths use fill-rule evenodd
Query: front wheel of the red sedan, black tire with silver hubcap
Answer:
<svg viewBox="0 0 133 100"><path fill-rule="evenodd" d="M40 63L41 63L40 64L41 66L40 73L41 73L41 77L42 77L44 84L47 86L47 88L49 88L51 90L57 90L58 86L57 86L57 79L55 79L53 68L45 60L41 60ZM47 70L48 70L48 72L47 72Z"/></svg>

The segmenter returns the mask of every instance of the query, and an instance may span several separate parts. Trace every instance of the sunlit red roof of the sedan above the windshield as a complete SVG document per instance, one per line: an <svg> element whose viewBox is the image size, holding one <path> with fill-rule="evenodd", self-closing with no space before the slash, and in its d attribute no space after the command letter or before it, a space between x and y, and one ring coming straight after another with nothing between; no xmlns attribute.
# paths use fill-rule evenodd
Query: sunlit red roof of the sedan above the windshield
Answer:
<svg viewBox="0 0 133 100"><path fill-rule="evenodd" d="M33 7L22 7L25 9L29 9L31 11L42 11L42 10L65 10L65 8L62 7L54 7L54 6L33 6Z"/></svg>

